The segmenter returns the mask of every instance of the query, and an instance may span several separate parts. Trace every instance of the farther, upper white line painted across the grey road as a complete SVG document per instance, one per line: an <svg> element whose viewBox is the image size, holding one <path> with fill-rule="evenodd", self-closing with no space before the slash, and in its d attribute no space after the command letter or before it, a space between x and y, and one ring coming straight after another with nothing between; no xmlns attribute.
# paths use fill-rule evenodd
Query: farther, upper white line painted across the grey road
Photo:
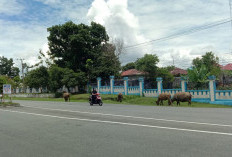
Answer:
<svg viewBox="0 0 232 157"><path fill-rule="evenodd" d="M135 116L126 116L126 115L115 115L115 114L105 114L105 113L95 113L95 112L83 112L83 111L77 111L77 110L71 111L71 110L62 110L62 109L32 107L32 106L25 106L25 107L30 107L30 108L35 108L35 109L43 109L43 110L51 110L51 111L64 111L64 112L70 112L70 113L85 113L85 114L101 115L101 116L112 116L112 117L123 117L123 118L134 118L134 119L166 121L166 122L175 122L175 123L187 123L187 124L198 124L198 125L232 127L232 125L227 125L227 124L202 123L202 122L180 121L180 120L171 120L171 119L149 118L149 117L135 117Z"/></svg>

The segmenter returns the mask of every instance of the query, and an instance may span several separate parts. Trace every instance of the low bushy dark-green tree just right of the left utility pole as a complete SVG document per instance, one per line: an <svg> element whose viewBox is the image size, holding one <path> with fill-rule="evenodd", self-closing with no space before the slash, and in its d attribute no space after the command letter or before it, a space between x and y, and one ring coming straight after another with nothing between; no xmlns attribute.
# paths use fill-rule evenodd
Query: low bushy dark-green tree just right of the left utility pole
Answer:
<svg viewBox="0 0 232 157"><path fill-rule="evenodd" d="M28 72L25 77L25 84L30 88L41 88L48 87L49 74L46 67L41 66L37 69Z"/></svg>

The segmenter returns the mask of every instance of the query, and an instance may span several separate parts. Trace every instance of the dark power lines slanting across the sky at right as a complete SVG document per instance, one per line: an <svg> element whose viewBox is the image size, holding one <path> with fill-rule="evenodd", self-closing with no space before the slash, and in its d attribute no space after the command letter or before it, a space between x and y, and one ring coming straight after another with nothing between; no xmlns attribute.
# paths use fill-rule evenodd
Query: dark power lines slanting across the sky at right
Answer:
<svg viewBox="0 0 232 157"><path fill-rule="evenodd" d="M147 41L147 42L143 42L143 43L139 43L139 44L135 44L135 45L130 45L130 46L125 47L124 49L134 48L134 47L138 47L138 46L144 46L144 45L147 45L147 44L151 44L153 42L166 41L166 40L178 38L180 36L184 36L184 35L188 35L188 34L191 34L191 33L198 32L198 31L206 30L206 29L209 29L209 28L212 28L212 27L216 27L216 26L225 24L225 23L229 23L229 22L232 22L231 18L219 20L219 21L216 21L216 22L213 22L213 23L210 23L210 24L200 26L198 28L193 28L193 29L190 29L190 30L183 31L181 33L176 33L176 34L173 34L173 35L157 38L157 39L150 40L150 41Z"/></svg>

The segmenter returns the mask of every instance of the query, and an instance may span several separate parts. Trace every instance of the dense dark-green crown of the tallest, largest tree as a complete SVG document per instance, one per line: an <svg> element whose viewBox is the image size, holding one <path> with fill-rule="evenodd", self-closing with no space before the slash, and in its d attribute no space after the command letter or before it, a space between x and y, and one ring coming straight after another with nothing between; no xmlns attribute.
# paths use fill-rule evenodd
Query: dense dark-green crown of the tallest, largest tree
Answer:
<svg viewBox="0 0 232 157"><path fill-rule="evenodd" d="M52 26L48 32L50 57L57 66L78 73L82 78L79 84L94 81L98 76L104 79L119 75L118 51L115 45L107 43L109 37L102 25L76 25L70 21Z"/></svg>

